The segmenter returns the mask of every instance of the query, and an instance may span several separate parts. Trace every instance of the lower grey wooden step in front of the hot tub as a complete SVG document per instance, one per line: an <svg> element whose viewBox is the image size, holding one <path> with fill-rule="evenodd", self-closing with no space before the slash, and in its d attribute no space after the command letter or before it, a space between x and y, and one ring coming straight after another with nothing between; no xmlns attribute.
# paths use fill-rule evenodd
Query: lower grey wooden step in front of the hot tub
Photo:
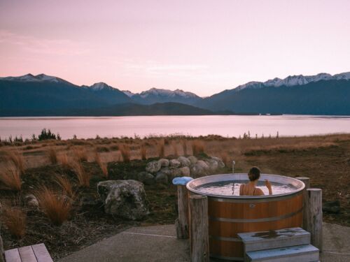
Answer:
<svg viewBox="0 0 350 262"><path fill-rule="evenodd" d="M246 252L249 262L311 262L319 260L319 251L313 245L300 245Z"/></svg>

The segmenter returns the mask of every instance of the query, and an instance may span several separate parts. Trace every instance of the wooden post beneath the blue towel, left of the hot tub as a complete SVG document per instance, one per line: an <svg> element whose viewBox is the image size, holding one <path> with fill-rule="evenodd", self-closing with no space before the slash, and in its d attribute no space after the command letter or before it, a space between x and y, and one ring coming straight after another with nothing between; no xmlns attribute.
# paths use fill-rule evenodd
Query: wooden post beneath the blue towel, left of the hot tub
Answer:
<svg viewBox="0 0 350 262"><path fill-rule="evenodd" d="M186 186L177 186L177 206L179 217L175 220L177 238L188 238L188 192Z"/></svg>

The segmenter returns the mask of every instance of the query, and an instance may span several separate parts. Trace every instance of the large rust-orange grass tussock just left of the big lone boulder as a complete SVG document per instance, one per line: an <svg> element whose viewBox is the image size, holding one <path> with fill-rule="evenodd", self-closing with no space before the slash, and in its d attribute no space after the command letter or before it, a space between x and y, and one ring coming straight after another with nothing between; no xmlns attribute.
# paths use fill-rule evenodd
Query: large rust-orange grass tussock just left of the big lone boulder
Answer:
<svg viewBox="0 0 350 262"><path fill-rule="evenodd" d="M51 223L60 226L69 218L73 201L53 189L42 186L34 194Z"/></svg>

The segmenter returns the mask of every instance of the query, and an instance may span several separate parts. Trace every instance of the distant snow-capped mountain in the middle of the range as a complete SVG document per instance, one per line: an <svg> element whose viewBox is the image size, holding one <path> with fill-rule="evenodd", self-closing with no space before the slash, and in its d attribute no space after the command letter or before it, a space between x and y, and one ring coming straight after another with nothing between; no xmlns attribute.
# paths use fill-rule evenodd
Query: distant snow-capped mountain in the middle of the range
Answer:
<svg viewBox="0 0 350 262"><path fill-rule="evenodd" d="M202 100L200 96L180 89L172 91L169 89L151 88L139 94L134 94L127 90L123 92L133 101L142 104L176 102L193 105L194 103Z"/></svg>

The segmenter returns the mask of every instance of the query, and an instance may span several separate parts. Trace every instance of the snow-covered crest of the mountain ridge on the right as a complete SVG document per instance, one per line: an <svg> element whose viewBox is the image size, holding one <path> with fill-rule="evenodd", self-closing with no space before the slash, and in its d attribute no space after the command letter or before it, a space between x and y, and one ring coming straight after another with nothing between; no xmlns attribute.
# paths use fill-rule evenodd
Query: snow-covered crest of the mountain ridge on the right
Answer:
<svg viewBox="0 0 350 262"><path fill-rule="evenodd" d="M262 87L293 87L295 85L307 85L309 82L318 82L320 80L350 80L350 72L330 75L329 73L318 73L317 75L289 75L287 78L274 78L266 82L248 82L244 85L239 85L234 90L241 89L257 89Z"/></svg>

